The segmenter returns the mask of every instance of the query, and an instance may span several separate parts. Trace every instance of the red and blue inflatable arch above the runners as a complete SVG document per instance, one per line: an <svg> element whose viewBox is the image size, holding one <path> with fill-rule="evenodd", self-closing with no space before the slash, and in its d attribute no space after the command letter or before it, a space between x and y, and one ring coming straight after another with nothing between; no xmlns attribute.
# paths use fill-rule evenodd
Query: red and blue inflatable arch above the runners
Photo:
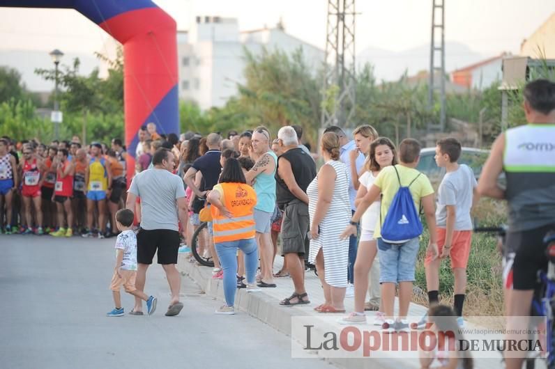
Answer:
<svg viewBox="0 0 555 369"><path fill-rule="evenodd" d="M152 122L160 133L178 134L176 22L151 0L0 0L1 6L73 8L121 42L128 168L135 168L139 127Z"/></svg>

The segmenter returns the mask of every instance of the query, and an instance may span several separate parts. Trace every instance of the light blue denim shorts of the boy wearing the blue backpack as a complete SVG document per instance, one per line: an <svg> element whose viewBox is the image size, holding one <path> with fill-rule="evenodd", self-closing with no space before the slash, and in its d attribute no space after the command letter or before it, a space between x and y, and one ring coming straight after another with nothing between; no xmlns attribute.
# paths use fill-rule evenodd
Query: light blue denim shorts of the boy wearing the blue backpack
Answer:
<svg viewBox="0 0 555 369"><path fill-rule="evenodd" d="M378 239L380 283L413 282L419 248L418 237L404 244L390 244L380 237Z"/></svg>

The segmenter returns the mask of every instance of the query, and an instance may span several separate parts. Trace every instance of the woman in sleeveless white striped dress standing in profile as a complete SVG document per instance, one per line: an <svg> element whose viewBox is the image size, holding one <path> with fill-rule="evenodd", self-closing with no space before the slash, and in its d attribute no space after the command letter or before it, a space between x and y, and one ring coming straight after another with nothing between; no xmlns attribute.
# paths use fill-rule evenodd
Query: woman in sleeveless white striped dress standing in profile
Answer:
<svg viewBox="0 0 555 369"><path fill-rule="evenodd" d="M309 262L316 264L324 288L324 304L317 306L321 313L344 313L349 240L340 240L343 227L351 219L349 179L347 167L339 161L340 140L327 132L321 141L324 164L307 187L310 214Z"/></svg>

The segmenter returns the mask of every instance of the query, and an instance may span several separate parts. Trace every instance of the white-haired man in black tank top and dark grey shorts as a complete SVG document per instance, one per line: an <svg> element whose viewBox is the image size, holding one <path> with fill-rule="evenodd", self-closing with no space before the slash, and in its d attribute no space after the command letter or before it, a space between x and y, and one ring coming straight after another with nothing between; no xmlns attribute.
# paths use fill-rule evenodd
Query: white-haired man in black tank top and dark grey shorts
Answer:
<svg viewBox="0 0 555 369"><path fill-rule="evenodd" d="M310 219L306 189L316 177L316 164L310 155L298 148L293 127L282 127L278 143L283 154L278 158L276 202L284 210L282 223L282 254L293 279L295 292L280 305L310 304L305 290L305 262Z"/></svg>

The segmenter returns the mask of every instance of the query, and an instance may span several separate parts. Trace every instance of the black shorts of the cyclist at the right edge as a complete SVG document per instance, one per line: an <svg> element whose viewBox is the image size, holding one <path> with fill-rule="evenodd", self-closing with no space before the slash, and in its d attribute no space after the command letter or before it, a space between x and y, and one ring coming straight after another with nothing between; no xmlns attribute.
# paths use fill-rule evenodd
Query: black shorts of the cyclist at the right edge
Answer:
<svg viewBox="0 0 555 369"><path fill-rule="evenodd" d="M555 230L555 224L507 233L506 247L515 250L515 261L512 264L513 290L533 290L538 283L538 270L547 270L546 245L543 239L550 230Z"/></svg>

